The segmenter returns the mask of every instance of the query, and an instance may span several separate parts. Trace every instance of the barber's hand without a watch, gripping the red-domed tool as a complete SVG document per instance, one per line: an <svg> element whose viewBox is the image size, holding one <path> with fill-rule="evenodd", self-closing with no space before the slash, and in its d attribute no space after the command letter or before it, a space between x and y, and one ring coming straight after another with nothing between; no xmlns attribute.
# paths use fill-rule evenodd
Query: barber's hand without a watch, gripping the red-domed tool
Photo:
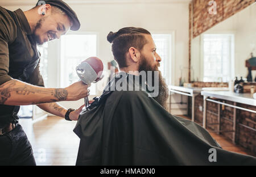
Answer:
<svg viewBox="0 0 256 177"><path fill-rule="evenodd" d="M65 88L68 91L67 101L76 101L81 98L89 96L90 90L88 89L90 85L86 85L84 82L75 82L72 85Z"/></svg>

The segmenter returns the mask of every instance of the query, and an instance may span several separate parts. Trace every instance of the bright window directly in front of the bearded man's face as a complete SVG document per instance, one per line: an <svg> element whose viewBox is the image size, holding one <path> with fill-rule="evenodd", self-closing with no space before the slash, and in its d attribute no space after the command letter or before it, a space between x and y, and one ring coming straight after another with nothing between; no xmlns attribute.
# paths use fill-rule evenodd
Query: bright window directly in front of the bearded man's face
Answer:
<svg viewBox="0 0 256 177"><path fill-rule="evenodd" d="M152 34L156 53L162 58L159 70L166 78L167 85L171 84L171 37L170 34Z"/></svg>

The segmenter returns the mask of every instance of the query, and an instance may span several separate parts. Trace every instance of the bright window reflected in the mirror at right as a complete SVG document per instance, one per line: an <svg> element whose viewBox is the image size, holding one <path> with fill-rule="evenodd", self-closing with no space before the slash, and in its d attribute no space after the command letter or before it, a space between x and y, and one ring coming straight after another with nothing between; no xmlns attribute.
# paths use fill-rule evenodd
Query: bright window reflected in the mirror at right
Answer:
<svg viewBox="0 0 256 177"><path fill-rule="evenodd" d="M229 82L232 78L232 34L207 34L203 36L204 82Z"/></svg>

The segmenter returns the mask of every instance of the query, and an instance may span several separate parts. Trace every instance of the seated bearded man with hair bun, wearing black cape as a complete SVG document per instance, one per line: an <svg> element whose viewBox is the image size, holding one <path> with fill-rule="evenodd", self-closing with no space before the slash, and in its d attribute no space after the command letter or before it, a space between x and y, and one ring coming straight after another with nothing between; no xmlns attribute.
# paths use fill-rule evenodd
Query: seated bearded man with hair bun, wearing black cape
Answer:
<svg viewBox="0 0 256 177"><path fill-rule="evenodd" d="M80 113L76 165L256 165L254 157L221 149L203 127L166 111L168 87L150 32L127 27L107 38L120 72Z"/></svg>

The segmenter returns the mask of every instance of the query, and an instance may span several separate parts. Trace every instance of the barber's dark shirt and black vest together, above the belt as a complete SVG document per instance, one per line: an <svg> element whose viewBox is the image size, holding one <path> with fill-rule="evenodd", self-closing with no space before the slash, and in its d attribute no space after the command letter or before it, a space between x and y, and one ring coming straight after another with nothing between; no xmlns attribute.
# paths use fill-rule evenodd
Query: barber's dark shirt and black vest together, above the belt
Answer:
<svg viewBox="0 0 256 177"><path fill-rule="evenodd" d="M18 9L12 12L0 6L0 94L5 92L1 90L1 85L13 78L44 86L39 57L23 11ZM0 104L0 128L15 122L18 110L19 106Z"/></svg>

